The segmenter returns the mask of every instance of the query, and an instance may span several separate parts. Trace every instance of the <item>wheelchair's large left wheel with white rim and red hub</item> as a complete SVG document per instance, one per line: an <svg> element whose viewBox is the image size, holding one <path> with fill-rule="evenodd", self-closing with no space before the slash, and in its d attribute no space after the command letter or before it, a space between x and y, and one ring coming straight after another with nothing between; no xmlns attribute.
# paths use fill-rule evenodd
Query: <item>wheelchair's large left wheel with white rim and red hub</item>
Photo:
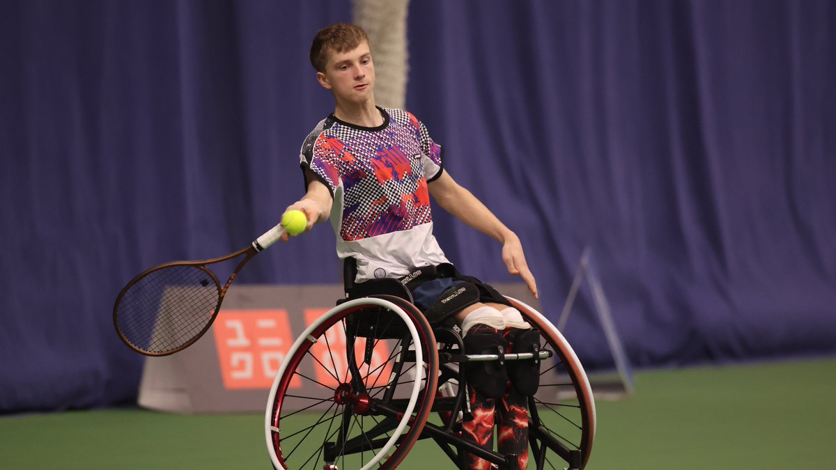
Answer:
<svg viewBox="0 0 836 470"><path fill-rule="evenodd" d="M329 310L273 381L265 416L273 467L396 467L421 435L437 375L435 337L409 302L379 296ZM302 381L317 393L294 392Z"/></svg>

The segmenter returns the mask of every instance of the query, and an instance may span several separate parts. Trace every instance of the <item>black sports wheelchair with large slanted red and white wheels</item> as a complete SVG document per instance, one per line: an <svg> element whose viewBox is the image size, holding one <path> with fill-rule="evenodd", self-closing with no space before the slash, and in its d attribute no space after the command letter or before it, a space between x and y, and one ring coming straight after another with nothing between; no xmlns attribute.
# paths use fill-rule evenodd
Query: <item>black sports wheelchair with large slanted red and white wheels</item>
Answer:
<svg viewBox="0 0 836 470"><path fill-rule="evenodd" d="M298 337L270 388L265 437L274 468L390 469L416 442L431 439L459 468L469 452L516 469L517 456L461 436L461 422L472 419L463 365L535 359L540 386L528 397L528 467L586 466L595 436L592 391L578 357L543 314L506 297L540 331L537 358L502 350L467 355L458 329L431 326L396 279L354 284L346 266L346 299ZM312 381L320 392L296 395L294 381ZM411 460L430 452L424 446Z"/></svg>

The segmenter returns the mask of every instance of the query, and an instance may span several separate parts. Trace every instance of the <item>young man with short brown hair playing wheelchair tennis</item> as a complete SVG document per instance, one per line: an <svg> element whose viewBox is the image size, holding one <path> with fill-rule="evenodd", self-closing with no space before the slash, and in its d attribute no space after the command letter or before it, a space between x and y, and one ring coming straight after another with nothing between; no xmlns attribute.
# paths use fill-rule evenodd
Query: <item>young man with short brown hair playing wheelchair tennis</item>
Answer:
<svg viewBox="0 0 836 470"><path fill-rule="evenodd" d="M508 272L523 278L537 297L519 238L443 169L441 146L414 115L375 105L375 65L366 33L348 23L324 28L314 38L310 60L319 84L334 95L334 113L319 122L303 143L300 157L307 192L287 210L304 212L308 230L331 219L339 257L356 260L355 283L402 279L414 276L419 268L435 273L439 267L437 276L425 275L421 283L407 284L415 304L424 311L454 285L472 289L474 302L451 314L467 347L507 346L509 338L512 342L522 338L521 332L530 331L530 326L517 309L490 286L461 276L445 258L432 235L429 196L462 222L502 243ZM513 370L509 371L513 380ZM475 384L468 390L474 419L462 427L489 448L496 410L499 451L517 454L525 468L526 394L510 386L504 375L497 383L495 375L468 375ZM490 465L472 457L469 467Z"/></svg>

